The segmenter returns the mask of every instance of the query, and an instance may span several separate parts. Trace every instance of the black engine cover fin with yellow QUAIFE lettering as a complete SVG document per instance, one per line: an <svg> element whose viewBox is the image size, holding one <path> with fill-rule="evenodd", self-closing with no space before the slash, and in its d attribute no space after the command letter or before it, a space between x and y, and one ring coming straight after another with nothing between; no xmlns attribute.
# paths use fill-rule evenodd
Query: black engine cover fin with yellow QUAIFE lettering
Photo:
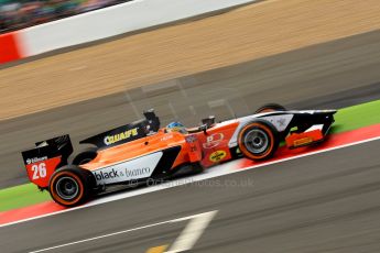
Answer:
<svg viewBox="0 0 380 253"><path fill-rule="evenodd" d="M145 119L99 133L79 143L89 143L96 145L98 148L106 148L158 132L160 129L160 119L155 116L154 110L144 111L143 114Z"/></svg>

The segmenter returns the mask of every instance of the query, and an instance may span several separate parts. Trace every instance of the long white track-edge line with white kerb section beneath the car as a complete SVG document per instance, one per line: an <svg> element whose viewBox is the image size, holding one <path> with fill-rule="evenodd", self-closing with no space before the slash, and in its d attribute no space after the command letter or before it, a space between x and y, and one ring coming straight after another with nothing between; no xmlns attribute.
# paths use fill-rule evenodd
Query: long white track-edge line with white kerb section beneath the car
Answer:
<svg viewBox="0 0 380 253"><path fill-rule="evenodd" d="M268 165L272 165L272 164L278 164L278 163L285 162L285 161L296 160L296 158L301 158L301 157L305 157L305 156L311 156L311 155L321 154L321 153L325 153L325 152L329 152L329 151L345 148L348 146L359 145L359 144L363 144L363 143L372 142L372 141L377 141L377 140L380 140L380 136L367 139L363 141L352 142L352 143L348 143L348 144L344 144L344 145L339 145L339 146L334 146L334 147L329 147L329 148L325 148L325 150L314 151L314 152L310 152L306 154L300 154L300 155L295 155L295 156L291 156L291 157L286 157L286 158L282 158L282 160L275 160L275 161L271 161L268 163L253 165L253 166L250 166L247 168L237 169L234 166L237 161L232 161L232 162L222 164L220 166L213 167L211 169L207 169L205 173L203 173L200 175L187 177L184 179L173 180L173 182L167 183L167 184L162 184L162 185L158 185L158 186L150 186L150 187L145 187L142 189L131 190L128 193L115 194L112 196L96 199L96 200L94 200L89 204L83 205L80 207L69 208L69 209L65 209L65 210L57 211L57 212L52 212L52 213L42 215L42 216L33 217L33 218L18 220L18 221L6 223L6 224L0 224L0 228L21 223L21 222L25 222L25 221L36 220L36 219L41 219L41 218L45 218L45 217L50 217L50 216L56 216L56 215L59 215L63 212L75 211L78 209L93 207L93 206L97 206L97 205L101 205L101 204L106 204L106 202L111 202L111 201L116 201L116 200L120 200L120 199L124 199L124 198L131 198L134 196L149 194L149 193L153 193L153 191L158 191L158 190L169 189L169 188L173 188L176 186L182 186L182 185L186 185L186 184L191 184L191 183L195 183L195 182L200 182L200 180L205 180L205 179L209 179L209 178L214 178L214 177L220 177L220 176L225 176L228 174L234 174L234 173L245 172L245 170L252 169L252 168L258 168L258 167L263 167L263 166L268 166Z"/></svg>

